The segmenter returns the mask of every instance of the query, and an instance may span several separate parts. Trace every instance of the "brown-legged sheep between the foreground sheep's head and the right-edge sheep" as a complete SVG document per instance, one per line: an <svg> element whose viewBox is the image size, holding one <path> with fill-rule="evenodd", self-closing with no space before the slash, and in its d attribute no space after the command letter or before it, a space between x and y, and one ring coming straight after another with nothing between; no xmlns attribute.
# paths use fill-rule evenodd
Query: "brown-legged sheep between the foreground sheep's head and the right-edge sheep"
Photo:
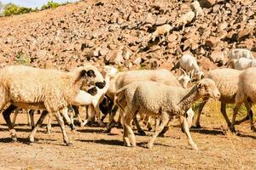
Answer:
<svg viewBox="0 0 256 170"><path fill-rule="evenodd" d="M217 85L217 88L220 93L221 108L220 111L224 116L225 121L227 122L228 127L231 126L231 122L226 113L226 105L234 104L235 97L238 89L238 81L239 76L243 71L237 71L234 69L224 68L224 69L215 69L212 71L208 71L206 74L206 78L212 79ZM198 116L195 122L195 127L201 127L200 125L200 116L201 111L203 110L204 105L207 104L208 99L203 99L203 102L199 105ZM236 124L240 124L247 120L248 117L243 118L241 121L236 122ZM233 129L235 130L235 129Z"/></svg>

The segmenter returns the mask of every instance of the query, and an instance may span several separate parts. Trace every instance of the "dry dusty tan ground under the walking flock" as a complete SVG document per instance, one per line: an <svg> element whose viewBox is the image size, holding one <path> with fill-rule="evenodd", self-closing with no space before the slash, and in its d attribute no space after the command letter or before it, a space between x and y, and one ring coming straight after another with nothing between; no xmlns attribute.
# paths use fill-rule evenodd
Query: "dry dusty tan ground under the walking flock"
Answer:
<svg viewBox="0 0 256 170"><path fill-rule="evenodd" d="M73 147L63 145L57 126L50 135L40 128L36 143L27 144L30 130L24 114L17 120L18 142L11 143L2 116L0 169L256 169L256 133L245 122L237 126L238 136L224 134L218 108L218 103L207 105L201 118L204 128L192 129L199 151L191 150L179 127L157 138L151 150L144 147L149 136L137 136L137 147L129 148L121 136L102 133L101 127L78 127L77 133L67 128Z"/></svg>

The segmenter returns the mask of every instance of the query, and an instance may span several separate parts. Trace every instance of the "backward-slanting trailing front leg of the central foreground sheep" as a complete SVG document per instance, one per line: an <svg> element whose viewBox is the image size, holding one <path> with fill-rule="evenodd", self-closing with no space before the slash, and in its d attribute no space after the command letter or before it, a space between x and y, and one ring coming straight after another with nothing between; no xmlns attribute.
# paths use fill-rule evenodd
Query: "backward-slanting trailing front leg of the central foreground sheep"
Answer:
<svg viewBox="0 0 256 170"><path fill-rule="evenodd" d="M154 140L159 135L159 133L162 132L164 127L166 127L167 123L169 122L169 115L166 111L162 111L161 119L162 119L162 122L160 123L160 126L156 128L153 137L148 142L148 149L151 149L153 147Z"/></svg>

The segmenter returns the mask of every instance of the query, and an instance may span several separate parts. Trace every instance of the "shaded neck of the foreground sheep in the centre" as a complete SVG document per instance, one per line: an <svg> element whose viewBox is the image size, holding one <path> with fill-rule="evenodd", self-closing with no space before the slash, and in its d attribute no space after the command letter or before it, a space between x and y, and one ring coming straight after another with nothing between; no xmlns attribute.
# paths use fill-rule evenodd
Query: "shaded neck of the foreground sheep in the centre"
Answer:
<svg viewBox="0 0 256 170"><path fill-rule="evenodd" d="M183 98L177 104L180 108L183 108L184 111L187 111L192 104L199 99L200 96L197 93L196 85L192 88L186 89L186 93L183 95Z"/></svg>

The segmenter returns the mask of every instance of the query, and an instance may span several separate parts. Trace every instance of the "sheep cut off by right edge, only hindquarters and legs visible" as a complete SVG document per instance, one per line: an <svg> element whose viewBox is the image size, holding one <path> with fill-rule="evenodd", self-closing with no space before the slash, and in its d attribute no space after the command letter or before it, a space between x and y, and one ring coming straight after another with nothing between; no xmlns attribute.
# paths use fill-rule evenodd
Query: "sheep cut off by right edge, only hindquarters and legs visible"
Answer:
<svg viewBox="0 0 256 170"><path fill-rule="evenodd" d="M256 102L255 93L256 93L256 68L248 68L246 71L242 72L239 77L238 90L236 94L236 107L234 109L234 114L232 117L231 128L233 129L236 124L236 115L238 108L242 103L245 103L247 108L247 115L250 116L251 129L256 132L256 128L253 126L253 114L249 114L249 111L252 108L252 105Z"/></svg>

